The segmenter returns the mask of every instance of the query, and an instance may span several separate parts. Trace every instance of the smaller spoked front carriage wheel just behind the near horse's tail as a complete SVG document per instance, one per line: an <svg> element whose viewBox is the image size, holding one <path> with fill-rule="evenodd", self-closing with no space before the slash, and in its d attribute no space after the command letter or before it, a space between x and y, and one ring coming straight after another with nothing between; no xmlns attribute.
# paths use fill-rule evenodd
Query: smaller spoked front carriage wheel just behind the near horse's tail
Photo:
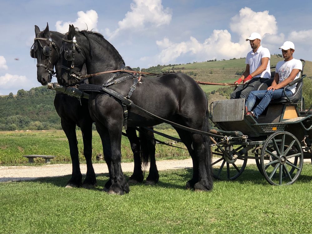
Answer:
<svg viewBox="0 0 312 234"><path fill-rule="evenodd" d="M212 151L212 154L221 156L212 163L213 177L219 180L233 180L241 175L244 171L247 158L233 158L243 146L233 149L232 145L217 145L217 149ZM247 156L247 153L244 154Z"/></svg>

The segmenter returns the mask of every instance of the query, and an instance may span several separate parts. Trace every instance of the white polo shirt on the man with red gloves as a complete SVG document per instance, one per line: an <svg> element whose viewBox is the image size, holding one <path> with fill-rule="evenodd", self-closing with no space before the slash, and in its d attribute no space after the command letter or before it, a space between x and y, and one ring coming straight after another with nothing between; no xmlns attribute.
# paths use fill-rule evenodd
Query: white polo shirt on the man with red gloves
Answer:
<svg viewBox="0 0 312 234"><path fill-rule="evenodd" d="M249 64L249 74L257 70L257 68L261 65L262 58L269 58L268 65L266 66L265 71L263 71L261 74L255 77L262 77L262 78L270 79L271 78L271 70L270 70L271 54L267 48L264 48L262 46L258 48L256 53L254 53L253 50L251 50L246 56L245 63Z"/></svg>

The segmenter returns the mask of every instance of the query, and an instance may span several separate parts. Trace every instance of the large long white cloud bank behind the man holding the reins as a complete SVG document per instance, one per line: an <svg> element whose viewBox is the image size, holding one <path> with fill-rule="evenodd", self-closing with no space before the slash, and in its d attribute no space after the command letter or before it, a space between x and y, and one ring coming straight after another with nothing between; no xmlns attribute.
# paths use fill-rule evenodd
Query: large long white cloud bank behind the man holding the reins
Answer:
<svg viewBox="0 0 312 234"><path fill-rule="evenodd" d="M276 34L275 17L269 15L268 11L254 12L248 7L242 8L239 14L232 17L230 28L232 32L240 36L239 42L233 42L231 33L227 30L213 30L212 35L203 43L197 41L195 37L190 37L189 41L179 43L171 42L167 37L164 37L163 40L156 41L162 51L154 57L155 63L172 63L183 54L188 54L193 61L246 57L251 48L245 39L252 32L259 32L264 36L263 38L268 38L268 43L274 39L274 43L280 43L284 40L284 34Z"/></svg>

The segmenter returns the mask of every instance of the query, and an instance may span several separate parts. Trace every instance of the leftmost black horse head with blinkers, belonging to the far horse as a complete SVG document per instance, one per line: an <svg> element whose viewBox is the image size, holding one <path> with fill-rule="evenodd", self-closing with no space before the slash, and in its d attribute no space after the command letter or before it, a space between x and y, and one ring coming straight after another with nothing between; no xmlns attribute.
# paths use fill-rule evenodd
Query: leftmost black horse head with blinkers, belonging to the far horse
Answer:
<svg viewBox="0 0 312 234"><path fill-rule="evenodd" d="M59 32L49 31L49 25L46 23L46 28L40 31L35 25L34 44L30 50L30 56L37 59L37 80L41 85L46 85L51 82L53 71L59 58L59 48L63 34Z"/></svg>

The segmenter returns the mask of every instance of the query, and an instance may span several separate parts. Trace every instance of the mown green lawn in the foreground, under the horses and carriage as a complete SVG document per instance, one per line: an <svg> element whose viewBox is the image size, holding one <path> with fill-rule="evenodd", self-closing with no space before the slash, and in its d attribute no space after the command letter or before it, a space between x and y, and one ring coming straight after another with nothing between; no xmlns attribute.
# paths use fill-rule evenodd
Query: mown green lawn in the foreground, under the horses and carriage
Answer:
<svg viewBox="0 0 312 234"><path fill-rule="evenodd" d="M106 174L95 190L63 188L69 176L0 183L0 233L311 233L310 163L290 186L269 185L250 165L207 193L184 189L191 172L162 171L157 186L123 196L101 192Z"/></svg>

